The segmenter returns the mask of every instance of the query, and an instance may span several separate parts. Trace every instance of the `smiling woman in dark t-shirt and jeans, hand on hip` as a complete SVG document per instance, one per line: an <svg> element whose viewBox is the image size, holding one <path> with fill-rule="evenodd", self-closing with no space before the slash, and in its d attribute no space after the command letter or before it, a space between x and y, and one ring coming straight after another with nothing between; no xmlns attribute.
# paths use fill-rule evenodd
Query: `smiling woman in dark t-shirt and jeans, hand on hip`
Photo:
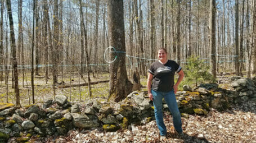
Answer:
<svg viewBox="0 0 256 143"><path fill-rule="evenodd" d="M160 135L166 136L167 129L162 111L162 100L164 98L172 113L174 128L179 135L183 136L181 114L179 113L175 94L179 83L184 77L184 73L178 63L167 59L167 50L165 48L158 49L158 58L158 61L150 65L149 77L147 78L147 92L154 104L156 124L158 124ZM179 77L174 85L175 72L178 73Z"/></svg>

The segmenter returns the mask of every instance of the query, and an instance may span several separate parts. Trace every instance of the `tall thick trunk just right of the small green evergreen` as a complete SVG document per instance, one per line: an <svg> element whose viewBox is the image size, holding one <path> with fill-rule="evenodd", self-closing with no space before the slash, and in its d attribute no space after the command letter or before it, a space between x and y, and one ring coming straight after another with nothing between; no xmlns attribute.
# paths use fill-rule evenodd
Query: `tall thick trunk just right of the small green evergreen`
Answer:
<svg viewBox="0 0 256 143"><path fill-rule="evenodd" d="M212 68L213 78L216 78L216 43L215 43L215 0L210 0L210 67Z"/></svg>

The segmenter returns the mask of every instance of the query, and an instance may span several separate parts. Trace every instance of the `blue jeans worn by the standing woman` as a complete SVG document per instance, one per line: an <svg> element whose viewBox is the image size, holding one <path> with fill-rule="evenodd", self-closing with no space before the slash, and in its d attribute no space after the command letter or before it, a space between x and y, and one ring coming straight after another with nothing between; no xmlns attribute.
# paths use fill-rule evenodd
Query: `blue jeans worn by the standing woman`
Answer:
<svg viewBox="0 0 256 143"><path fill-rule="evenodd" d="M154 110L155 110L155 118L156 118L156 124L158 124L158 128L160 131L160 135L164 136L167 133L164 119L163 119L163 98L165 99L165 102L167 103L170 113L172 113L173 117L173 125L177 132L182 132L182 123L181 123L181 114L179 113L178 105L176 102L176 97L174 94L174 91L168 91L168 92L162 92L162 91L154 91L151 90L152 95L154 96L153 104L154 104Z"/></svg>

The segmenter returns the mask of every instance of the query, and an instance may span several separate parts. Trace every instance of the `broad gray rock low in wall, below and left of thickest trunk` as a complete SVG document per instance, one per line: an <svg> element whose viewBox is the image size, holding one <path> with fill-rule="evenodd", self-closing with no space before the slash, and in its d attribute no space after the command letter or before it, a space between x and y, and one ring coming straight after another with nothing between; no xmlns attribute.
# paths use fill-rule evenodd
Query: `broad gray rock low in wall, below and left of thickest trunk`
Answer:
<svg viewBox="0 0 256 143"><path fill-rule="evenodd" d="M71 116L73 117L73 124L77 128L92 128L100 126L96 119L91 120L86 116L86 114L71 113Z"/></svg>

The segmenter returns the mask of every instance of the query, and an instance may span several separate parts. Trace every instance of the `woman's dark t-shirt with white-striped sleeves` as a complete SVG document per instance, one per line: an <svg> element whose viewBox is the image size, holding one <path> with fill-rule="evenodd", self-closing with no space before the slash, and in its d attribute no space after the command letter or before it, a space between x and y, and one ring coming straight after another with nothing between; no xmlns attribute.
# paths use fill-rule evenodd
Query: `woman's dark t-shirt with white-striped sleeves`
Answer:
<svg viewBox="0 0 256 143"><path fill-rule="evenodd" d="M171 91L174 85L175 72L181 71L181 66L172 60L162 64L159 61L152 63L149 72L153 75L151 89L155 91Z"/></svg>

